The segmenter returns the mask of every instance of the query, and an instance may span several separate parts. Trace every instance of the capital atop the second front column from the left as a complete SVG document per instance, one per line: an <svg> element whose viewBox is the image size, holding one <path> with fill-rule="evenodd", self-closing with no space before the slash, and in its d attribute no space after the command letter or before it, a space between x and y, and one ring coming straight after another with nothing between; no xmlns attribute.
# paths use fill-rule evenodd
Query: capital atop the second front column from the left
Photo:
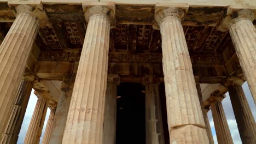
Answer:
<svg viewBox="0 0 256 144"><path fill-rule="evenodd" d="M110 28L115 27L115 3L114 2L83 2L85 20L89 22L92 15L106 16Z"/></svg>

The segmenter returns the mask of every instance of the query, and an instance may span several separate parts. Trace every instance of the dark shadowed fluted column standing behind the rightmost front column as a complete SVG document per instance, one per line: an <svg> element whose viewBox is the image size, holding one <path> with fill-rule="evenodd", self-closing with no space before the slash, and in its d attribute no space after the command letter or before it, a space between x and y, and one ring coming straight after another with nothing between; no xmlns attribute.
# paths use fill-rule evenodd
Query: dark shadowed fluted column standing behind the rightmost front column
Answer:
<svg viewBox="0 0 256 144"><path fill-rule="evenodd" d="M243 92L242 83L242 80L230 79L225 84L228 87L242 142L256 143L256 125L245 93Z"/></svg>

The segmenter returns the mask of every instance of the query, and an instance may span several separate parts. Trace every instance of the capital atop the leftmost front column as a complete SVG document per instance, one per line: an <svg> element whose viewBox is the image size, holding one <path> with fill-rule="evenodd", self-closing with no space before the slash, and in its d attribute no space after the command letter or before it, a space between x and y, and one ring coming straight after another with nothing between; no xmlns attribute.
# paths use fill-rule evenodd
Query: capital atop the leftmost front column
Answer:
<svg viewBox="0 0 256 144"><path fill-rule="evenodd" d="M36 17L40 26L50 25L41 1L10 1L8 5L11 9L14 9L14 15L16 16L22 13L30 13Z"/></svg>

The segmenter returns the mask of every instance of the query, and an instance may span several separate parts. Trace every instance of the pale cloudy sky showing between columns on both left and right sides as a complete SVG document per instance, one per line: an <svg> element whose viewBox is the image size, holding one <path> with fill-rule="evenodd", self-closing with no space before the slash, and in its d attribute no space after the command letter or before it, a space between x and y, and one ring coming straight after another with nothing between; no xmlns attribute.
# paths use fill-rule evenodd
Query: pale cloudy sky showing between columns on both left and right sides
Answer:
<svg viewBox="0 0 256 144"><path fill-rule="evenodd" d="M254 119L255 119L256 118L256 107L255 107L255 104L254 104L254 100L252 98L252 94L249 91L249 87L247 85L247 82L243 83L242 87L243 87L243 91L245 92L247 101L249 103L249 106L251 108L251 111L252 111ZM24 139L25 139L25 136L26 136L26 131L28 129L28 125L30 124L30 121L31 121L33 111L34 111L34 107L36 106L36 103L37 103L37 97L36 97L36 95L34 95L34 90L32 90L30 100L28 101L28 106L27 106L27 110L26 110L26 113L25 113L24 121L23 121L22 126L21 126L19 139L18 139L18 144L24 143ZM242 144L241 139L240 139L240 135L239 135L239 132L238 132L238 129L237 129L237 124L236 124L236 119L235 119L235 116L234 116L234 112L232 110L232 105L231 105L231 101L230 101L230 98L229 98L229 93L226 93L226 98L222 101L222 105L223 105L223 109L224 109L224 112L225 112L226 119L228 121L230 133L231 133L231 136L232 136L232 140L234 141L234 144ZM50 115L50 109L48 108L47 113L46 113L46 117L45 117L45 122L44 122L42 135L40 137L40 143L42 143L43 134L44 134L44 130L45 130L46 123L48 121L49 115ZM218 143L217 142L217 137L216 137L216 131L214 129L214 123L213 123L213 119L212 119L211 110L207 113L207 115L208 115L209 122L210 122L210 125L211 125L211 130L212 130L212 134L213 134L214 143Z"/></svg>

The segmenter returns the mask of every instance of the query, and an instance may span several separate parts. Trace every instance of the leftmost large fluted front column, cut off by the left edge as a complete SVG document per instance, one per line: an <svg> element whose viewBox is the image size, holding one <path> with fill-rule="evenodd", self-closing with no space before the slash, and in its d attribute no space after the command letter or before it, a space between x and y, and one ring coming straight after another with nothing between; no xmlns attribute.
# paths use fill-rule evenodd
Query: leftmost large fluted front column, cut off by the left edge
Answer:
<svg viewBox="0 0 256 144"><path fill-rule="evenodd" d="M36 39L39 24L29 5L16 7L17 17L0 46L0 133L9 119L28 55Z"/></svg>

